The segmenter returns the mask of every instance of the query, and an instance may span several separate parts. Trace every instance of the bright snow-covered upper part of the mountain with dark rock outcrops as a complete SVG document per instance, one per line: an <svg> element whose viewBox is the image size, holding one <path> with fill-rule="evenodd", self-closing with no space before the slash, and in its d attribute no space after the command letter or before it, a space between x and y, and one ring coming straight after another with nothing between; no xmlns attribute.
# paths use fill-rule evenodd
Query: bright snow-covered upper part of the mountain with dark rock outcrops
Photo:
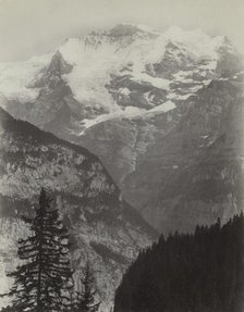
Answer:
<svg viewBox="0 0 244 312"><path fill-rule="evenodd" d="M77 117L80 127L89 127L114 115L137 115L168 101L184 100L223 76L223 53L236 57L234 52L227 38L199 29L171 27L160 34L120 24L108 32L69 38L53 53L0 64L0 93L41 114L42 105L37 109L32 103L63 84L80 111L88 111ZM44 126L46 120L36 123Z"/></svg>

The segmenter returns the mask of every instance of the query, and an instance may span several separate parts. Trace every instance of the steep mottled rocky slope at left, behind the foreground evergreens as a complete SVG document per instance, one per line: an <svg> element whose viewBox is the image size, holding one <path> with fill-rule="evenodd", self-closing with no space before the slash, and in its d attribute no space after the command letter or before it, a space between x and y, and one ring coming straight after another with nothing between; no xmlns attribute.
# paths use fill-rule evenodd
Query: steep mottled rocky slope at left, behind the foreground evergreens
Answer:
<svg viewBox="0 0 244 312"><path fill-rule="evenodd" d="M1 269L13 267L16 239L26 233L20 216L33 213L44 186L71 230L76 275L89 258L109 309L122 272L156 233L123 201L97 157L2 109L0 122Z"/></svg>

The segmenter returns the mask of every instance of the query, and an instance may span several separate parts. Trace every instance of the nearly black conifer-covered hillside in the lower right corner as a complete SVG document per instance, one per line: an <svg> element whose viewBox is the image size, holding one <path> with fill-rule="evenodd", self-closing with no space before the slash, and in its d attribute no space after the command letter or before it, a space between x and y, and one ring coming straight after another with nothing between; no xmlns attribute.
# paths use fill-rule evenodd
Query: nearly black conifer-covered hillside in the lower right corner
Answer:
<svg viewBox="0 0 244 312"><path fill-rule="evenodd" d="M115 294L114 312L241 312L244 216L175 233L142 251Z"/></svg>

